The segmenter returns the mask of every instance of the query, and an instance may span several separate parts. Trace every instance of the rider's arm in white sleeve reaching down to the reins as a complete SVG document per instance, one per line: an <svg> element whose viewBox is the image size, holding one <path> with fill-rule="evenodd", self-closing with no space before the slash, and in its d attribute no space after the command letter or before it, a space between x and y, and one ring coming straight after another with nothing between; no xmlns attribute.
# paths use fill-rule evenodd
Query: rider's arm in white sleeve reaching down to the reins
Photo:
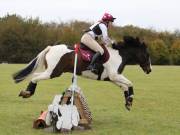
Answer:
<svg viewBox="0 0 180 135"><path fill-rule="evenodd" d="M105 24L99 24L99 27L102 31L102 41L105 43L105 45L111 44L111 39L108 36L107 27Z"/></svg>

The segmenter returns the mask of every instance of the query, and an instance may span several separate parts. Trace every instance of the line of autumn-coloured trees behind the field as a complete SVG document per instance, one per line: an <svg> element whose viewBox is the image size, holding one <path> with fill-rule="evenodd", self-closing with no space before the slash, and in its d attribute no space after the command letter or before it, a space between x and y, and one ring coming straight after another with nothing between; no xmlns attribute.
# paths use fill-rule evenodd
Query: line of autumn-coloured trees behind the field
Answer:
<svg viewBox="0 0 180 135"><path fill-rule="evenodd" d="M73 45L92 23L71 21L42 23L38 18L6 15L0 18L0 63L27 63L48 45ZM123 36L139 37L147 45L152 64L180 65L180 31L157 32L133 25L114 26L110 36L121 41Z"/></svg>

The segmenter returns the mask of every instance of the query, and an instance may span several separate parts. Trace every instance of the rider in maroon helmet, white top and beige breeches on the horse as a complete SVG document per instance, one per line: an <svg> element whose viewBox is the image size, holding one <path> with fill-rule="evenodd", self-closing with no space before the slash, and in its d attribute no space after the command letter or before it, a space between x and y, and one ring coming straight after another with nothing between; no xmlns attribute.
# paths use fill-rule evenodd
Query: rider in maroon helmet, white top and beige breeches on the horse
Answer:
<svg viewBox="0 0 180 135"><path fill-rule="evenodd" d="M116 18L114 18L111 14L104 13L102 19L89 27L89 30L87 30L82 36L81 43L96 52L90 65L87 67L88 70L93 72L97 71L95 63L97 62L97 59L104 54L104 50L97 40L101 40L105 45L109 45L111 43L111 39L108 36L108 29L111 28L112 22L114 22L115 19Z"/></svg>

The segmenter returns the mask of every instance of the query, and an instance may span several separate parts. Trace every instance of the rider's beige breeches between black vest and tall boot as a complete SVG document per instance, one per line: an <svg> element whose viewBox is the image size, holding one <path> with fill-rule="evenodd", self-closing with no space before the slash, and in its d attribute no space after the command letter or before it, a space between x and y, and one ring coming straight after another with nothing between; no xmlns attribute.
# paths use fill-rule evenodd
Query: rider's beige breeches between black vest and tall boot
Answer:
<svg viewBox="0 0 180 135"><path fill-rule="evenodd" d="M95 52L100 52L101 55L104 54L104 50L103 48L98 44L98 42L96 40L94 40L91 35L89 35L88 33L85 33L82 38L81 38L81 42L83 44L85 44L87 47L89 47L90 49L92 49Z"/></svg>

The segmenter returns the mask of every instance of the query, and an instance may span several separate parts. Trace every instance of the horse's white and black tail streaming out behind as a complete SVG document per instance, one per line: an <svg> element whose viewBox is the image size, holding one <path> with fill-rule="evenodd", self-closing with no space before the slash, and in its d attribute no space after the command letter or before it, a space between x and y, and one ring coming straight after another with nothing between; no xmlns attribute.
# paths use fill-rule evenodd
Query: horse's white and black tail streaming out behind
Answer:
<svg viewBox="0 0 180 135"><path fill-rule="evenodd" d="M33 74L37 69L40 69L44 66L45 55L49 51L51 46L46 47L43 51L41 51L36 58L34 58L29 64L21 69L20 71L13 74L13 80L15 83L19 83L26 79L28 76Z"/></svg>

